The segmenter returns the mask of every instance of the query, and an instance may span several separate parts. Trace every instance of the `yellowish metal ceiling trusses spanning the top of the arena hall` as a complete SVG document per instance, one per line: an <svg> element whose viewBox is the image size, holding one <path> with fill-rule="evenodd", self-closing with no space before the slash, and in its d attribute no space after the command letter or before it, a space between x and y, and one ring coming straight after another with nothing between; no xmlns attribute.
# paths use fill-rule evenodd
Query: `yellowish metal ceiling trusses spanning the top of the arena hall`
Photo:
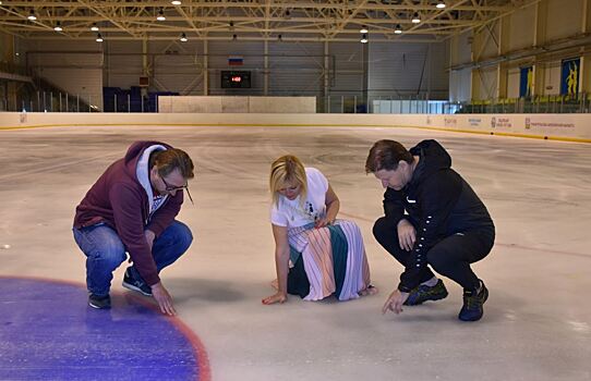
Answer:
<svg viewBox="0 0 591 381"><path fill-rule="evenodd" d="M27 39L435 42L539 0L0 1L0 32ZM31 21L34 14L36 20ZM158 21L162 14L166 21ZM419 15L420 23L412 23ZM62 30L56 32L58 25ZM399 27L402 33L396 34Z"/></svg>

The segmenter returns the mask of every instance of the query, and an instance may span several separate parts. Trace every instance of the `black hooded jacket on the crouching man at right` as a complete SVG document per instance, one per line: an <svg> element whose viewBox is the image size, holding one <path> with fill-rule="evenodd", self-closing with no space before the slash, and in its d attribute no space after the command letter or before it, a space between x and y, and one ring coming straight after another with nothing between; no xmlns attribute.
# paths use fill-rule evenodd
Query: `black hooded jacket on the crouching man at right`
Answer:
<svg viewBox="0 0 591 381"><path fill-rule="evenodd" d="M494 230L486 207L451 169L445 148L435 140L423 140L410 152L420 157L412 179L403 189L387 188L384 194L386 218L395 224L406 218L417 229L414 247L400 275L398 290L402 292L420 284L426 254L441 239L470 230Z"/></svg>

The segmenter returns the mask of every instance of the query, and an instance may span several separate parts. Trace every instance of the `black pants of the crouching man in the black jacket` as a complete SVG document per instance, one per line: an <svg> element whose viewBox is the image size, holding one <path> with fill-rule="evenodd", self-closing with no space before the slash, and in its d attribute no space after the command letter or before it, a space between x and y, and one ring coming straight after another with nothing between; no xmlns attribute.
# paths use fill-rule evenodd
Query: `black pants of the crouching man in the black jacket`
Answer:
<svg viewBox="0 0 591 381"><path fill-rule="evenodd" d="M413 225L417 229L414 223ZM383 217L375 221L373 233L377 242L406 267L410 259L410 251L400 248L396 224ZM479 286L479 279L470 268L470 263L486 257L493 248L494 241L494 226L454 234L435 244L427 251L426 260L437 273L459 283L466 290L474 290ZM421 273L421 283L433 276L431 269L425 267Z"/></svg>

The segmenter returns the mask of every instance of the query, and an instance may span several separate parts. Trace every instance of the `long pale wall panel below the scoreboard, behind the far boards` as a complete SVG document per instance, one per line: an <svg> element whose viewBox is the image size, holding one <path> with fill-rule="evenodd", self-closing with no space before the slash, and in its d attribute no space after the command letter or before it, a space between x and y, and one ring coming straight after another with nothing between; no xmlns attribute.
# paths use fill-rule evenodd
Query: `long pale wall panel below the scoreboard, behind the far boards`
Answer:
<svg viewBox="0 0 591 381"><path fill-rule="evenodd" d="M158 97L159 112L315 113L315 97Z"/></svg>

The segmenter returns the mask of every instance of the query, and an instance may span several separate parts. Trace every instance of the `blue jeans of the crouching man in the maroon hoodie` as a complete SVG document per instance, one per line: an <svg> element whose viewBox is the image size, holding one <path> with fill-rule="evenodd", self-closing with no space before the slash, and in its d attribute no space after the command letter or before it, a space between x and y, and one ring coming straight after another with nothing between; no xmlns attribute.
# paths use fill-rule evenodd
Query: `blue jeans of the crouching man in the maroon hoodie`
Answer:
<svg viewBox="0 0 591 381"><path fill-rule="evenodd" d="M112 272L128 258L126 249L117 232L104 223L73 229L74 239L86 256L86 286L95 295L107 295L111 286ZM173 221L159 237L154 239L152 256L160 272L172 265L191 246L193 235L182 222ZM131 268L135 279L141 279Z"/></svg>

